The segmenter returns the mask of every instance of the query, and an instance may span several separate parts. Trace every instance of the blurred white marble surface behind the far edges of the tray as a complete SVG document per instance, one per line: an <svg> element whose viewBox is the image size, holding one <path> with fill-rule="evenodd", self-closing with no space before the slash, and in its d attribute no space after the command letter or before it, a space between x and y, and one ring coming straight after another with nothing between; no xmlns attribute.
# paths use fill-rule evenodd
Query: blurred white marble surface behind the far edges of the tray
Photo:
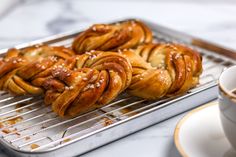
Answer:
<svg viewBox="0 0 236 157"><path fill-rule="evenodd" d="M1 0L0 48L130 17L235 48L235 0Z"/></svg>

